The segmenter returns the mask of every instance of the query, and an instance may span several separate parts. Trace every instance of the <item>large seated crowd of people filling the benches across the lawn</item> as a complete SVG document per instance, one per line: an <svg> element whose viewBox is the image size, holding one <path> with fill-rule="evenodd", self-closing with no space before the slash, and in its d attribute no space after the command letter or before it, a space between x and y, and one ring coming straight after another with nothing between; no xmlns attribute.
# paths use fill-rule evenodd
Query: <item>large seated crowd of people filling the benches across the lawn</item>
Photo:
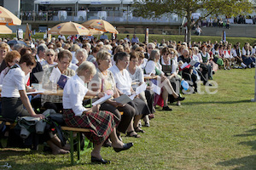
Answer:
<svg viewBox="0 0 256 170"><path fill-rule="evenodd" d="M129 36L120 40L73 36L65 41L52 37L34 41L36 48L9 46L7 39L1 39L1 115L12 120L17 116L44 119L41 108L61 113L67 126L90 128L85 135L95 144L91 161L105 164L110 161L102 159L102 145L112 146L116 152L128 150L133 144L124 144L122 133L143 138L157 105L163 111L172 111L168 103L182 105L183 81L189 82L188 94L195 94L198 83L212 86L208 81L218 69L255 67L255 48L248 43L241 48L239 42L143 43L136 35L133 39L137 41ZM53 79L56 70L69 77L62 96L38 94L29 99L26 92L35 91L32 83L40 83L44 89L61 88ZM37 76L40 72L42 79ZM146 90L126 104L114 100L135 94L145 83L145 75L154 77L147 81ZM153 84L160 93L153 90ZM85 95L99 99L105 94L112 97L101 105L84 107ZM53 154L68 153L68 145L62 146L55 135L47 132L44 141Z"/></svg>

